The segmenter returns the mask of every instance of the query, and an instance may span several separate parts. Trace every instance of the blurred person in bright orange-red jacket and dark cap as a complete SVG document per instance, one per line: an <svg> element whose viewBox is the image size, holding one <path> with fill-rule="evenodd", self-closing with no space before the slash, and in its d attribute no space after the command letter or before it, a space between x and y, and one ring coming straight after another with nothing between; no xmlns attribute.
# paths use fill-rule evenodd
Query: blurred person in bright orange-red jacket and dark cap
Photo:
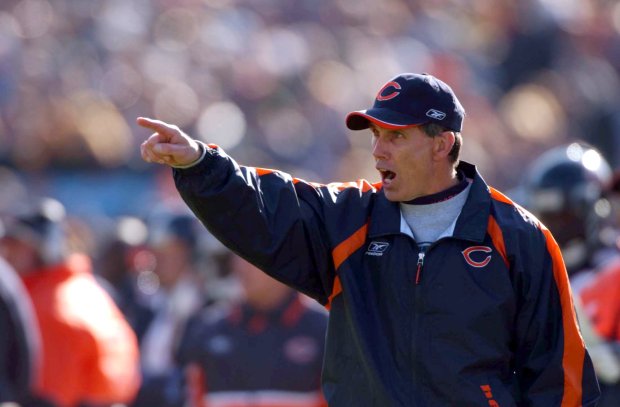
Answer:
<svg viewBox="0 0 620 407"><path fill-rule="evenodd" d="M42 395L59 407L131 401L140 382L136 337L94 279L90 259L65 246L63 205L45 198L9 222L0 250L34 305Z"/></svg>

